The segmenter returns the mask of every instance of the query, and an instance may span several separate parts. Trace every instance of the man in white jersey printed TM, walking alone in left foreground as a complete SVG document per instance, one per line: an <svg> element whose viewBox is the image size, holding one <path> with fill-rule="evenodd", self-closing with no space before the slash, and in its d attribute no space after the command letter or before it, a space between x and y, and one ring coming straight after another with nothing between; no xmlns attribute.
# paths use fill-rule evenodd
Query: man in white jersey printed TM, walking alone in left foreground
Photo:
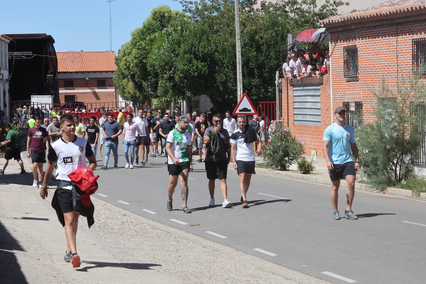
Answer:
<svg viewBox="0 0 426 284"><path fill-rule="evenodd" d="M97 166L96 158L87 140L75 135L75 121L72 115L65 114L61 116L60 129L63 131L63 136L49 147L49 155L47 155L49 164L44 175L40 196L43 199L47 197L47 185L52 177L55 164L58 164L58 169L55 172L58 189L56 189L52 199L52 207L56 204L58 205L54 208L57 209L58 219L61 223L64 223L65 227L67 246L64 260L71 262L73 267L80 267L80 257L77 254L75 235L77 234L80 213L86 215L89 221L88 214L90 212L87 211L87 208L90 207L83 206L81 198L75 192L68 174L76 169L83 168L86 164L86 158L89 160L89 167L95 170ZM55 199L57 200L56 204L53 202ZM61 216L62 214L63 217ZM93 211L91 214L91 217L93 217ZM89 223L89 227L92 224Z"/></svg>

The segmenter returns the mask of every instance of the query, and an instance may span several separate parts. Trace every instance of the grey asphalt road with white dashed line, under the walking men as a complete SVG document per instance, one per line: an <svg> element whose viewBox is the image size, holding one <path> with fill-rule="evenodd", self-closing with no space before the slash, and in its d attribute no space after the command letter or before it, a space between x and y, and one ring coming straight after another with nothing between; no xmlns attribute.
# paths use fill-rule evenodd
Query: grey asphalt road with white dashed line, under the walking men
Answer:
<svg viewBox="0 0 426 284"><path fill-rule="evenodd" d="M188 184L188 207L193 213L181 211L179 185L169 212L166 158L149 158L146 166L124 169L120 141L118 159L118 169L101 170L104 156L97 156L96 197L145 218L332 283L425 281L423 200L357 191L353 210L359 219L349 220L343 217L346 189L342 188L342 219L334 221L330 186L256 174L247 195L250 208L243 209L239 177L229 169L228 199L233 207L222 208L216 181L216 207L212 208L204 163L194 162Z"/></svg>

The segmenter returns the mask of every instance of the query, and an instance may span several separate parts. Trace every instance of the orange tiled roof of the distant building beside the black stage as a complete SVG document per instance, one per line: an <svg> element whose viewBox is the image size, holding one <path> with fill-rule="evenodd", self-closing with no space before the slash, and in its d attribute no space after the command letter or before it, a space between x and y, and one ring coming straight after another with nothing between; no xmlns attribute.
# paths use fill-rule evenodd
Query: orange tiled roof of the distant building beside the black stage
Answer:
<svg viewBox="0 0 426 284"><path fill-rule="evenodd" d="M115 71L114 51L56 52L58 72Z"/></svg>

